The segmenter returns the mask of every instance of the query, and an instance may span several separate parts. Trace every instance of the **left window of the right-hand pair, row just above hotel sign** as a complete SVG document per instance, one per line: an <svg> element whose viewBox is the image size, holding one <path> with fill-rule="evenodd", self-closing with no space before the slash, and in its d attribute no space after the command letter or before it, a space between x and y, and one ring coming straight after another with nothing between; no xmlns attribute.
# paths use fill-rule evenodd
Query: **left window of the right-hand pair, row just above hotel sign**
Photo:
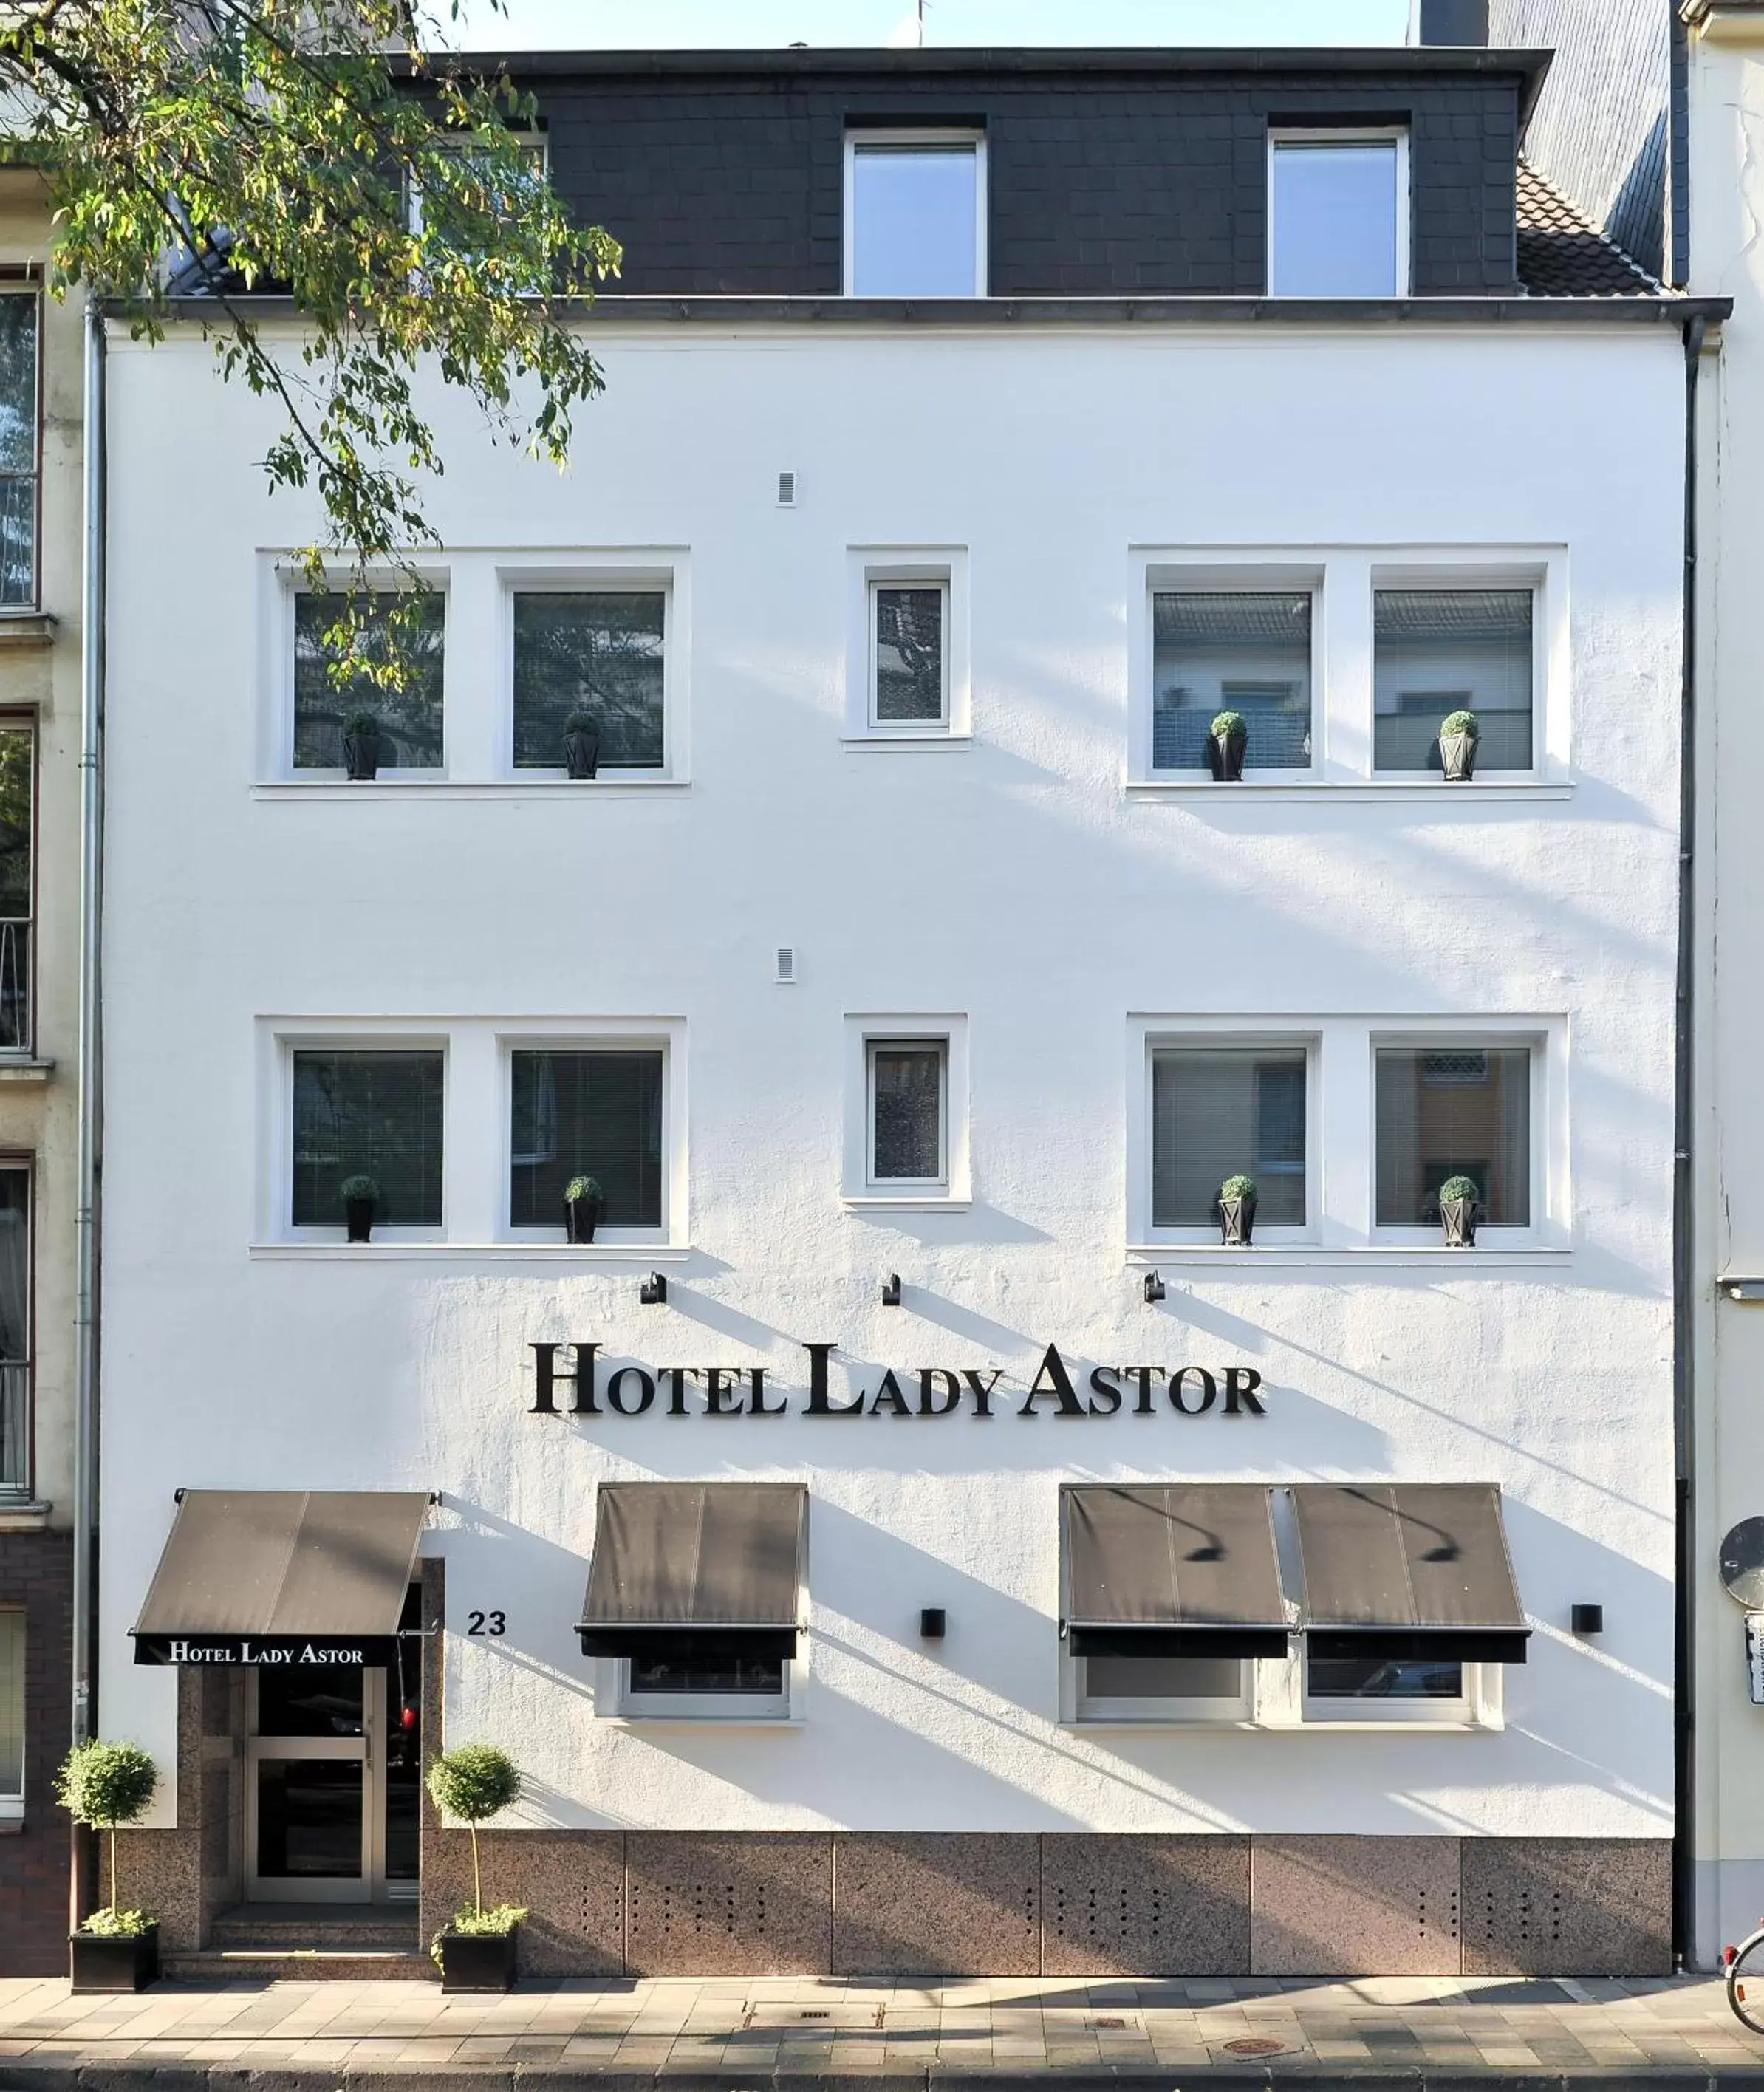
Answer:
<svg viewBox="0 0 1764 2092"><path fill-rule="evenodd" d="M1258 1228L1306 1224L1304 1046L1153 1050L1153 1226L1214 1226L1230 1176L1256 1178Z"/></svg>

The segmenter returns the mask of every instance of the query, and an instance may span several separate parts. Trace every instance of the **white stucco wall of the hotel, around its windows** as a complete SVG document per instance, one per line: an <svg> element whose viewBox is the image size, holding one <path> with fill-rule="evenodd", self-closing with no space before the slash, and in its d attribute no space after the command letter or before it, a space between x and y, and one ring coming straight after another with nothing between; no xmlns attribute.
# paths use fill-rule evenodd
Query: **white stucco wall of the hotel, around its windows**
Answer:
<svg viewBox="0 0 1764 2092"><path fill-rule="evenodd" d="M467 789L498 669L460 584L454 782L266 791L264 590L310 510L266 496L270 423L205 347L113 341L105 1732L169 1761L174 1676L128 1628L176 1487L433 1487L448 1736L517 1753L529 1822L1668 1835L1676 335L663 324L607 326L605 362L563 477L448 408L433 521L460 571L676 548L691 782ZM852 546L965 548L969 751L841 745ZM1124 791L1147 548L1341 565L1343 770L1371 682L1348 582L1551 561L1546 782ZM965 1015L971 1209L841 1203L850 1013ZM1207 1015L1322 1036L1318 1243L1168 1253L1149 1308L1132 1027ZM448 1245L266 1241L264 1040L360 1017L458 1021ZM676 1253L483 1247L502 1128L469 1021L603 1017L682 1027ZM1366 1040L1435 1017L1553 1040L1532 1249L1366 1245ZM665 1308L638 1305L651 1264ZM1268 1416L523 1414L527 1343L573 1337L766 1364L793 1402L810 1339L870 1383L1002 1366L1019 1400L1050 1341L1241 1360ZM810 1481L799 1726L596 1720L594 1483L732 1475ZM1505 1728L1061 1726L1057 1485L1170 1475L1498 1481L1536 1630ZM475 1607L504 1640L460 1634Z"/></svg>

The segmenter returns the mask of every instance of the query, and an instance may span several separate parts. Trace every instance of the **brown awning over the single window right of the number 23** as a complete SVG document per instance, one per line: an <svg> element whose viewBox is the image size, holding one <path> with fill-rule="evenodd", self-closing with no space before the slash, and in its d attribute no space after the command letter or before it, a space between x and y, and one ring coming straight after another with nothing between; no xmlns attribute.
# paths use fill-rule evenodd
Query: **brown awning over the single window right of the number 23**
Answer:
<svg viewBox="0 0 1764 2092"><path fill-rule="evenodd" d="M603 1481L582 1655L793 1657L806 1536L799 1481Z"/></svg>

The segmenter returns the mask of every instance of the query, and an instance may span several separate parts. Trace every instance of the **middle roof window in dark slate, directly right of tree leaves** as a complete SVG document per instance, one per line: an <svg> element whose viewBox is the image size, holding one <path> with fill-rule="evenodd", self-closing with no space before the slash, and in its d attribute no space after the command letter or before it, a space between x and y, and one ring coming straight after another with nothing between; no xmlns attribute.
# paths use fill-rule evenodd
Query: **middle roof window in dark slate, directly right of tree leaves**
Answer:
<svg viewBox="0 0 1764 2092"><path fill-rule="evenodd" d="M845 134L845 295L986 295L986 140Z"/></svg>

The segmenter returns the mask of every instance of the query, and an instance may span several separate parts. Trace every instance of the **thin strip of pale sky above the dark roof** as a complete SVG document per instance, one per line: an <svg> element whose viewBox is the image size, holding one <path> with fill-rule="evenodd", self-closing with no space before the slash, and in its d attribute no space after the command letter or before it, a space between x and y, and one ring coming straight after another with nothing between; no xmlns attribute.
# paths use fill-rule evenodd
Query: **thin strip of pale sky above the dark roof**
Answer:
<svg viewBox="0 0 1764 2092"><path fill-rule="evenodd" d="M465 0L473 50L877 46L914 0ZM1400 44L1408 0L925 0L927 46Z"/></svg>

